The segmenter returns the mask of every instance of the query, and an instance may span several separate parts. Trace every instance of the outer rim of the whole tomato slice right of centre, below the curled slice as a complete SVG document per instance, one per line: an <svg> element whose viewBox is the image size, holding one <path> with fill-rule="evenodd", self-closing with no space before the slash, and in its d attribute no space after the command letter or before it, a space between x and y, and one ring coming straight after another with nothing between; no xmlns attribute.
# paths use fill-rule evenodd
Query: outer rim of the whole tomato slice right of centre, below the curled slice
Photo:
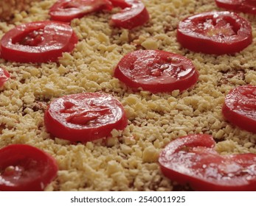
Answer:
<svg viewBox="0 0 256 206"><path fill-rule="evenodd" d="M171 61L169 63L167 62L167 60L165 60L166 58L172 58L173 60L179 60L179 66L177 66L177 70L180 69L179 67L188 68L189 73L185 74L184 77L173 77L172 75L174 74L161 74L159 77L151 77L150 74L145 74L148 76L147 78L143 77L143 79L139 79L139 75L135 77L134 74L130 74L129 72L133 71L131 68L134 68L136 66L136 62L139 61L140 56L147 57L147 55L149 55L148 58L150 58L151 61L153 58L155 60L153 60L154 62L152 63L152 65L138 65L142 67L141 69L150 68L154 65L157 65L157 67L169 64L170 66L173 66L173 63ZM146 60L142 60L142 62L146 62ZM172 71L174 72L175 68L173 68ZM182 72L183 71L181 71L181 73ZM160 50L131 51L130 53L125 54L125 56L122 57L120 62L117 63L117 66L114 68L114 77L120 79L120 81L127 85L129 88L132 88L134 90L142 88L143 90L148 90L152 93L171 92L178 89L180 91L186 90L196 84L198 80L198 75L198 71L194 67L191 60L179 54ZM165 79L165 81L163 79Z"/></svg>

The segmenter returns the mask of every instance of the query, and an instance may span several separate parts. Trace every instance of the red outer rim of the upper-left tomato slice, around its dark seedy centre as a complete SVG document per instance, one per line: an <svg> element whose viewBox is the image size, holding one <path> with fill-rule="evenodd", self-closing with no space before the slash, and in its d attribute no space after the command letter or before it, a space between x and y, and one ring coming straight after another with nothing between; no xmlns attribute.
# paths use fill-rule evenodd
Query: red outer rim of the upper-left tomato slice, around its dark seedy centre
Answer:
<svg viewBox="0 0 256 206"><path fill-rule="evenodd" d="M52 26L55 24L58 28L62 26L63 37L64 34L66 35L66 32L69 32L69 35L65 37L65 42L57 42L58 44L54 43L54 45L51 45L45 40L44 42L47 43L46 46L24 46L19 43L13 43L13 38L15 40L19 40L24 36L23 33L26 35L33 29L45 28L46 26ZM26 31L27 28L28 31ZM58 38L58 40L59 39L60 38ZM1 38L1 57L5 60L21 63L44 63L48 61L57 61L58 57L61 57L63 52L72 51L75 48L75 43L77 43L77 41L78 38L75 35L75 32L72 30L72 27L67 24L56 21L30 22L10 29L10 31Z"/></svg>

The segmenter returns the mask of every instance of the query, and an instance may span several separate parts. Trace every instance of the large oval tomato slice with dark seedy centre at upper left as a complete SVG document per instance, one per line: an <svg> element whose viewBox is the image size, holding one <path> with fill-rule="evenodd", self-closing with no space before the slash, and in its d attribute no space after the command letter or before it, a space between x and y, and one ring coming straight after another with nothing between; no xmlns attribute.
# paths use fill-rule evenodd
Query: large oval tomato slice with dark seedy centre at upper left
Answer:
<svg viewBox="0 0 256 206"><path fill-rule="evenodd" d="M21 24L1 38L1 57L20 63L57 61L72 51L77 36L72 27L55 21Z"/></svg>

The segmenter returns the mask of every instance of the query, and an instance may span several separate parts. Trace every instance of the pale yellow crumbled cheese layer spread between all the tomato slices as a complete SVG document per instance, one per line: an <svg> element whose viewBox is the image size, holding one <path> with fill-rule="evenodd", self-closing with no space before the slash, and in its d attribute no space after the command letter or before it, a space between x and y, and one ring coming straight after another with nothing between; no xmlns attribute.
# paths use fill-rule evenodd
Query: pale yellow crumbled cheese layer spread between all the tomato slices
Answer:
<svg viewBox="0 0 256 206"><path fill-rule="evenodd" d="M256 16L239 13L252 24L253 42L234 55L209 55L181 48L179 21L219 9L212 0L145 0L151 16L131 31L108 24L111 13L91 13L71 23L79 43L58 63L24 64L0 59L10 79L0 88L0 148L26 143L43 149L59 166L46 191L190 190L167 180L157 162L162 148L175 138L210 134L221 154L256 154L256 135L224 120L221 107L230 89L256 85ZM32 6L0 22L0 38L15 25L49 19L54 0ZM0 3L1 7L1 3ZM2 7L1 7L2 8ZM129 51L160 49L190 58L199 72L194 88L180 93L134 92L113 77L115 65ZM111 137L70 143L52 137L44 127L44 110L57 97L82 92L110 93L120 100L128 127Z"/></svg>

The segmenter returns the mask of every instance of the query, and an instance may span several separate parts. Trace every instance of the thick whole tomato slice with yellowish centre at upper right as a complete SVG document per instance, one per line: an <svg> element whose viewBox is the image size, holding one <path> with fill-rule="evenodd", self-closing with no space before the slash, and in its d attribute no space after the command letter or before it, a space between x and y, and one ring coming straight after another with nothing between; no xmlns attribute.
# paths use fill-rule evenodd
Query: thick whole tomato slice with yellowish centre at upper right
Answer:
<svg viewBox="0 0 256 206"><path fill-rule="evenodd" d="M252 43L252 26L235 13L201 13L179 23L177 40L191 51L232 54Z"/></svg>

